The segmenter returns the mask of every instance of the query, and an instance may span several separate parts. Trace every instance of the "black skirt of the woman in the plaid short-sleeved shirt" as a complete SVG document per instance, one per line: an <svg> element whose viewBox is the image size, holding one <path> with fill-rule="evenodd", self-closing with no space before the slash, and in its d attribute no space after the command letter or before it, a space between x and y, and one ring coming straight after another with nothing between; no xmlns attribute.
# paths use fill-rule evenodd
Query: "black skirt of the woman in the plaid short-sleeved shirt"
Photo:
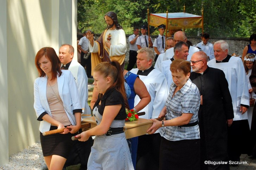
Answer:
<svg viewBox="0 0 256 170"><path fill-rule="evenodd" d="M200 139L170 141L162 137L159 169L199 170Z"/></svg>

